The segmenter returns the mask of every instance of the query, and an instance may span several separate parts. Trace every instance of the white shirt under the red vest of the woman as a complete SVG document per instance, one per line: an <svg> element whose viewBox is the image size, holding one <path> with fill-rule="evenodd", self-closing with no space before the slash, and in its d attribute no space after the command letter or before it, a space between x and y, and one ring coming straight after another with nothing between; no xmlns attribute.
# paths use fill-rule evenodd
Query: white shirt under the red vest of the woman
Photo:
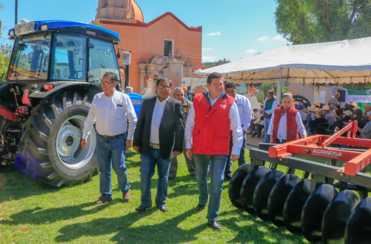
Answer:
<svg viewBox="0 0 371 244"><path fill-rule="evenodd" d="M283 115L278 122L276 137L277 139L282 142L282 140L287 140L287 113ZM268 127L268 135L273 135L273 121L274 121L275 113L272 114L272 118L270 119L270 124ZM298 131L300 135L304 137L306 135L306 131L303 125L303 122L301 120L300 114L296 113L295 116L296 126L298 126Z"/></svg>

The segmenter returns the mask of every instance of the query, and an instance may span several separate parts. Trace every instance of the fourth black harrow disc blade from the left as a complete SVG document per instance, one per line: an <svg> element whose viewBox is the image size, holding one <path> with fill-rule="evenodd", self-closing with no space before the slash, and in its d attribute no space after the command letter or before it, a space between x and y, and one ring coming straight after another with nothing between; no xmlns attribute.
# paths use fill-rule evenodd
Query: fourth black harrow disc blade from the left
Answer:
<svg viewBox="0 0 371 244"><path fill-rule="evenodd" d="M270 221L276 226L283 226L283 206L289 192L296 184L301 181L301 178L296 175L285 175L280 178L270 191L268 198L268 215Z"/></svg>

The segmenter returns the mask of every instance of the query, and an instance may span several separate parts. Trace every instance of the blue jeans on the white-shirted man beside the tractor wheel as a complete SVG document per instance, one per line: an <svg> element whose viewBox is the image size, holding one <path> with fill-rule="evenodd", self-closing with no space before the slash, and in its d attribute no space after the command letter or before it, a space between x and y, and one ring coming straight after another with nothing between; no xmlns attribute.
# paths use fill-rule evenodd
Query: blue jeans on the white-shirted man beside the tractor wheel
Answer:
<svg viewBox="0 0 371 244"><path fill-rule="evenodd" d="M97 134L96 152L100 172L99 189L101 196L106 199L112 198L112 168L116 172L118 187L121 191L127 191L130 188L128 183L128 174L125 165L125 147L126 135L115 136L114 138L104 138Z"/></svg>

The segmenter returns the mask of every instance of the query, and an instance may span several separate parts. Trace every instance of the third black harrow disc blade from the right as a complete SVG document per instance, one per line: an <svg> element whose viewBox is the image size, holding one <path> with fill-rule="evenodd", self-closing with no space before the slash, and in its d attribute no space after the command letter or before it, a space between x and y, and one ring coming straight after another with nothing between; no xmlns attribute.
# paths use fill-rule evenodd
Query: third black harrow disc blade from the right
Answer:
<svg viewBox="0 0 371 244"><path fill-rule="evenodd" d="M338 191L336 191L335 187L323 184L309 195L304 204L301 217L302 231L306 240L313 242L322 239L322 219L327 205L336 194L338 194Z"/></svg>

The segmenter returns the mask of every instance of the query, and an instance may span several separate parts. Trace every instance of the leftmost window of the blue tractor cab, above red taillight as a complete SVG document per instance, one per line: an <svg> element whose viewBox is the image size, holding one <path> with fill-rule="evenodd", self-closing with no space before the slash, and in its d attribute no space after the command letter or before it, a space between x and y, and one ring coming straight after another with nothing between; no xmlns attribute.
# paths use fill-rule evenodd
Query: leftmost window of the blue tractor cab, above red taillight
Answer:
<svg viewBox="0 0 371 244"><path fill-rule="evenodd" d="M46 80L49 69L50 37L16 39L10 58L8 80Z"/></svg>

